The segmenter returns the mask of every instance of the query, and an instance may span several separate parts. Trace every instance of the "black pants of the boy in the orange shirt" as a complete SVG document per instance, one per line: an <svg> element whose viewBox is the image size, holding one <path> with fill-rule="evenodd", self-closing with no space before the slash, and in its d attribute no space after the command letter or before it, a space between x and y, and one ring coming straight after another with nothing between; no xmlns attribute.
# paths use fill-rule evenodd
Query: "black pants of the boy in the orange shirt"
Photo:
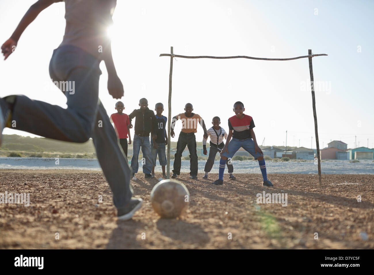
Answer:
<svg viewBox="0 0 374 275"><path fill-rule="evenodd" d="M174 155L175 159L173 173L177 175L181 174L181 157L186 146L188 151L190 151L190 175L197 176L196 137L194 133L181 132L179 134L177 153Z"/></svg>

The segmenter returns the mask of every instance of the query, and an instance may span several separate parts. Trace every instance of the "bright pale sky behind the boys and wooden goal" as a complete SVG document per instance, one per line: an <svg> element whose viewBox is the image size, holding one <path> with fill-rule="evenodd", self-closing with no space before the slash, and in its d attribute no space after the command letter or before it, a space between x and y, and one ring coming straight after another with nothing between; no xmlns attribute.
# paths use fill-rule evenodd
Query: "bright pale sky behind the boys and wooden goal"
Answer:
<svg viewBox="0 0 374 275"><path fill-rule="evenodd" d="M0 43L14 31L35 0L0 1ZM168 116L169 57L180 55L313 58L320 148L342 140L348 148L374 147L373 1L117 1L113 15L113 58L122 80L125 113L148 99L150 109L162 102ZM66 107L66 98L50 88L49 60L62 41L64 3L44 10L25 30L16 51L0 61L0 96L24 94ZM370 48L371 47L371 48ZM99 97L108 115L117 100L107 91L104 62ZM252 116L259 145L316 148L308 59L174 59L172 116L193 104L207 127L212 117L227 119L242 101ZM177 123L176 134L181 122ZM14 129L4 134L30 135ZM133 136L134 131L131 131ZM312 138L313 137L313 138ZM197 131L202 141L203 131ZM177 137L172 138L177 141Z"/></svg>

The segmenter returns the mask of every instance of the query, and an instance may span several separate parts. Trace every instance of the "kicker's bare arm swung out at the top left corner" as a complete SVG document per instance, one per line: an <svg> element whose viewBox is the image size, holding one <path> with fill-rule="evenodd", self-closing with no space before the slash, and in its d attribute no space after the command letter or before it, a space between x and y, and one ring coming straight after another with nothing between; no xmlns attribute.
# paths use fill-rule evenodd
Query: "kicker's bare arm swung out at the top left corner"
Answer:
<svg viewBox="0 0 374 275"><path fill-rule="evenodd" d="M39 0L36 3L32 4L31 7L27 10L25 15L22 17L19 22L16 30L13 32L12 36L1 46L1 52L4 55L4 60L8 58L12 52L14 52L19 37L21 37L24 30L30 25L31 22L39 15L39 13L56 2L61 2L62 0Z"/></svg>

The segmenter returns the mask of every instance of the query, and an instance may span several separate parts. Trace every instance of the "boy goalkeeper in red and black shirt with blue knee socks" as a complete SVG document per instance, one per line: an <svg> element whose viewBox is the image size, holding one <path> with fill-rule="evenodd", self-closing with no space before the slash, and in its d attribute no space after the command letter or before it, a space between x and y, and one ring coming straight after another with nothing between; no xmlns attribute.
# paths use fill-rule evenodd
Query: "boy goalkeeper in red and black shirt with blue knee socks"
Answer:
<svg viewBox="0 0 374 275"><path fill-rule="evenodd" d="M218 174L218 180L214 181L215 185L223 184L223 173L225 171L226 160L231 158L234 154L242 147L248 153L250 153L255 159L258 160L260 165L262 177L264 179L264 186L273 186L270 180L267 179L266 165L264 160L264 155L257 145L255 132L253 128L255 123L251 116L243 114L244 104L240 101L234 103L233 109L235 115L229 118L229 135L226 140L226 144L221 151L220 159L220 170ZM232 138L232 139L231 139Z"/></svg>

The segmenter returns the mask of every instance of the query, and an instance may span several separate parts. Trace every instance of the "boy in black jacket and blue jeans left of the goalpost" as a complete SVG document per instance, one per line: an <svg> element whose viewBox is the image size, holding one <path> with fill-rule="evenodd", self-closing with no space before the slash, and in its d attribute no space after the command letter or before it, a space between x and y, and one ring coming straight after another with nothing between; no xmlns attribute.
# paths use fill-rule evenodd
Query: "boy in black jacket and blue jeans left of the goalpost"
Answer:
<svg viewBox="0 0 374 275"><path fill-rule="evenodd" d="M132 141L132 158L131 158L131 178L134 178L135 173L139 169L139 152L143 153L143 173L145 178L153 178L151 175L152 171L152 159L151 159L151 146L149 141L149 133L152 138L156 139L157 135L153 134L153 129L156 129L157 122L154 112L148 109L148 100L142 98L139 100L140 109L135 109L129 114L130 128L132 128L131 120L136 117L135 120L135 134L134 140Z"/></svg>

